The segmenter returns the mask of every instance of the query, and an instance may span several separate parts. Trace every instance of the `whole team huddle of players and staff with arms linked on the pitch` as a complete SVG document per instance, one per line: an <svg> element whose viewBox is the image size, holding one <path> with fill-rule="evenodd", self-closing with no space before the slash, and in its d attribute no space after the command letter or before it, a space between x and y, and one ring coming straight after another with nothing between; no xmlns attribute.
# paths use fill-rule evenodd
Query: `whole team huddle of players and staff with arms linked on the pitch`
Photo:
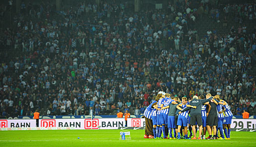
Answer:
<svg viewBox="0 0 256 147"><path fill-rule="evenodd" d="M170 97L170 94L158 92L155 100L145 109L144 138L230 140L233 114L227 102L220 99L219 95L212 97L207 94L206 98L203 95L194 96L191 100L186 97L181 100ZM206 131L209 134L207 138Z"/></svg>

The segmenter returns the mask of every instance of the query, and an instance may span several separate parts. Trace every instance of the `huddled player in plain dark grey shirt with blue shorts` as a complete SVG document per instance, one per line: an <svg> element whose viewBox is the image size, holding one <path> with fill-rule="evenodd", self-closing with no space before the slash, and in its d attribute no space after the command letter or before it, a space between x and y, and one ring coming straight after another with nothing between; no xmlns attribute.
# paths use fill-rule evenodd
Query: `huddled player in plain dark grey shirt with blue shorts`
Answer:
<svg viewBox="0 0 256 147"><path fill-rule="evenodd" d="M178 97L173 98L173 100L176 102L178 100ZM176 112L176 106L178 105L178 103L176 104L172 104L171 102L169 103L169 105L167 106L163 106L161 109L168 109L169 108L169 112L168 112L168 119L167 119L167 127L168 127L168 131L169 131L169 137L170 139L173 139L172 137L172 130L174 133L174 138L176 138L176 131L175 131L175 112ZM182 110L182 109L180 109Z"/></svg>

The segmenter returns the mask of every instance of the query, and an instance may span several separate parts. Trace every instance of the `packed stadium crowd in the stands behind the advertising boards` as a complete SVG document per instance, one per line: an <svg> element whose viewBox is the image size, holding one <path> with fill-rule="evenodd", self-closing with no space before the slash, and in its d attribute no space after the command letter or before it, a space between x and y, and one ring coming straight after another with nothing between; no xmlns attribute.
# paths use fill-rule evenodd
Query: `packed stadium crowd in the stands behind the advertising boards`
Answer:
<svg viewBox="0 0 256 147"><path fill-rule="evenodd" d="M67 11L22 3L0 31L0 115L140 115L158 91L220 95L234 115L255 115L256 4L185 1L140 12L103 0ZM206 18L229 31L198 28Z"/></svg>

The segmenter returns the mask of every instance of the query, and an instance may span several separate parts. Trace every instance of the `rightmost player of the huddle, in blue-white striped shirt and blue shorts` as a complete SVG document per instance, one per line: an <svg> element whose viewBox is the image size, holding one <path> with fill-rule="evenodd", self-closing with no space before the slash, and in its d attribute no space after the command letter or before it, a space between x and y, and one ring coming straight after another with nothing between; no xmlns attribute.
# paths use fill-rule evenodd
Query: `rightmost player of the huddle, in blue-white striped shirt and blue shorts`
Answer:
<svg viewBox="0 0 256 147"><path fill-rule="evenodd" d="M226 140L230 140L230 132L231 132L230 125L231 125L233 114L230 110L228 103L224 100L221 100L221 101L223 102L223 106L226 109L224 120L223 120L223 129L224 129L224 133L226 135ZM227 131L227 127L228 127L228 131Z"/></svg>

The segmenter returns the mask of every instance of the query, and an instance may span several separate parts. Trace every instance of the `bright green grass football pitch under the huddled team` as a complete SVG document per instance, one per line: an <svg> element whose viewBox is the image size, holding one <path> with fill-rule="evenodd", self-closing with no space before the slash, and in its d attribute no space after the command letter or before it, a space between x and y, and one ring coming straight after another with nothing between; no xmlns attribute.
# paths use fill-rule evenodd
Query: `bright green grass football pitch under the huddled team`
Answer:
<svg viewBox="0 0 256 147"><path fill-rule="evenodd" d="M256 132L231 132L231 140L169 140L144 139L144 130L128 130L131 140L119 140L120 131L0 131L0 147L256 147Z"/></svg>

